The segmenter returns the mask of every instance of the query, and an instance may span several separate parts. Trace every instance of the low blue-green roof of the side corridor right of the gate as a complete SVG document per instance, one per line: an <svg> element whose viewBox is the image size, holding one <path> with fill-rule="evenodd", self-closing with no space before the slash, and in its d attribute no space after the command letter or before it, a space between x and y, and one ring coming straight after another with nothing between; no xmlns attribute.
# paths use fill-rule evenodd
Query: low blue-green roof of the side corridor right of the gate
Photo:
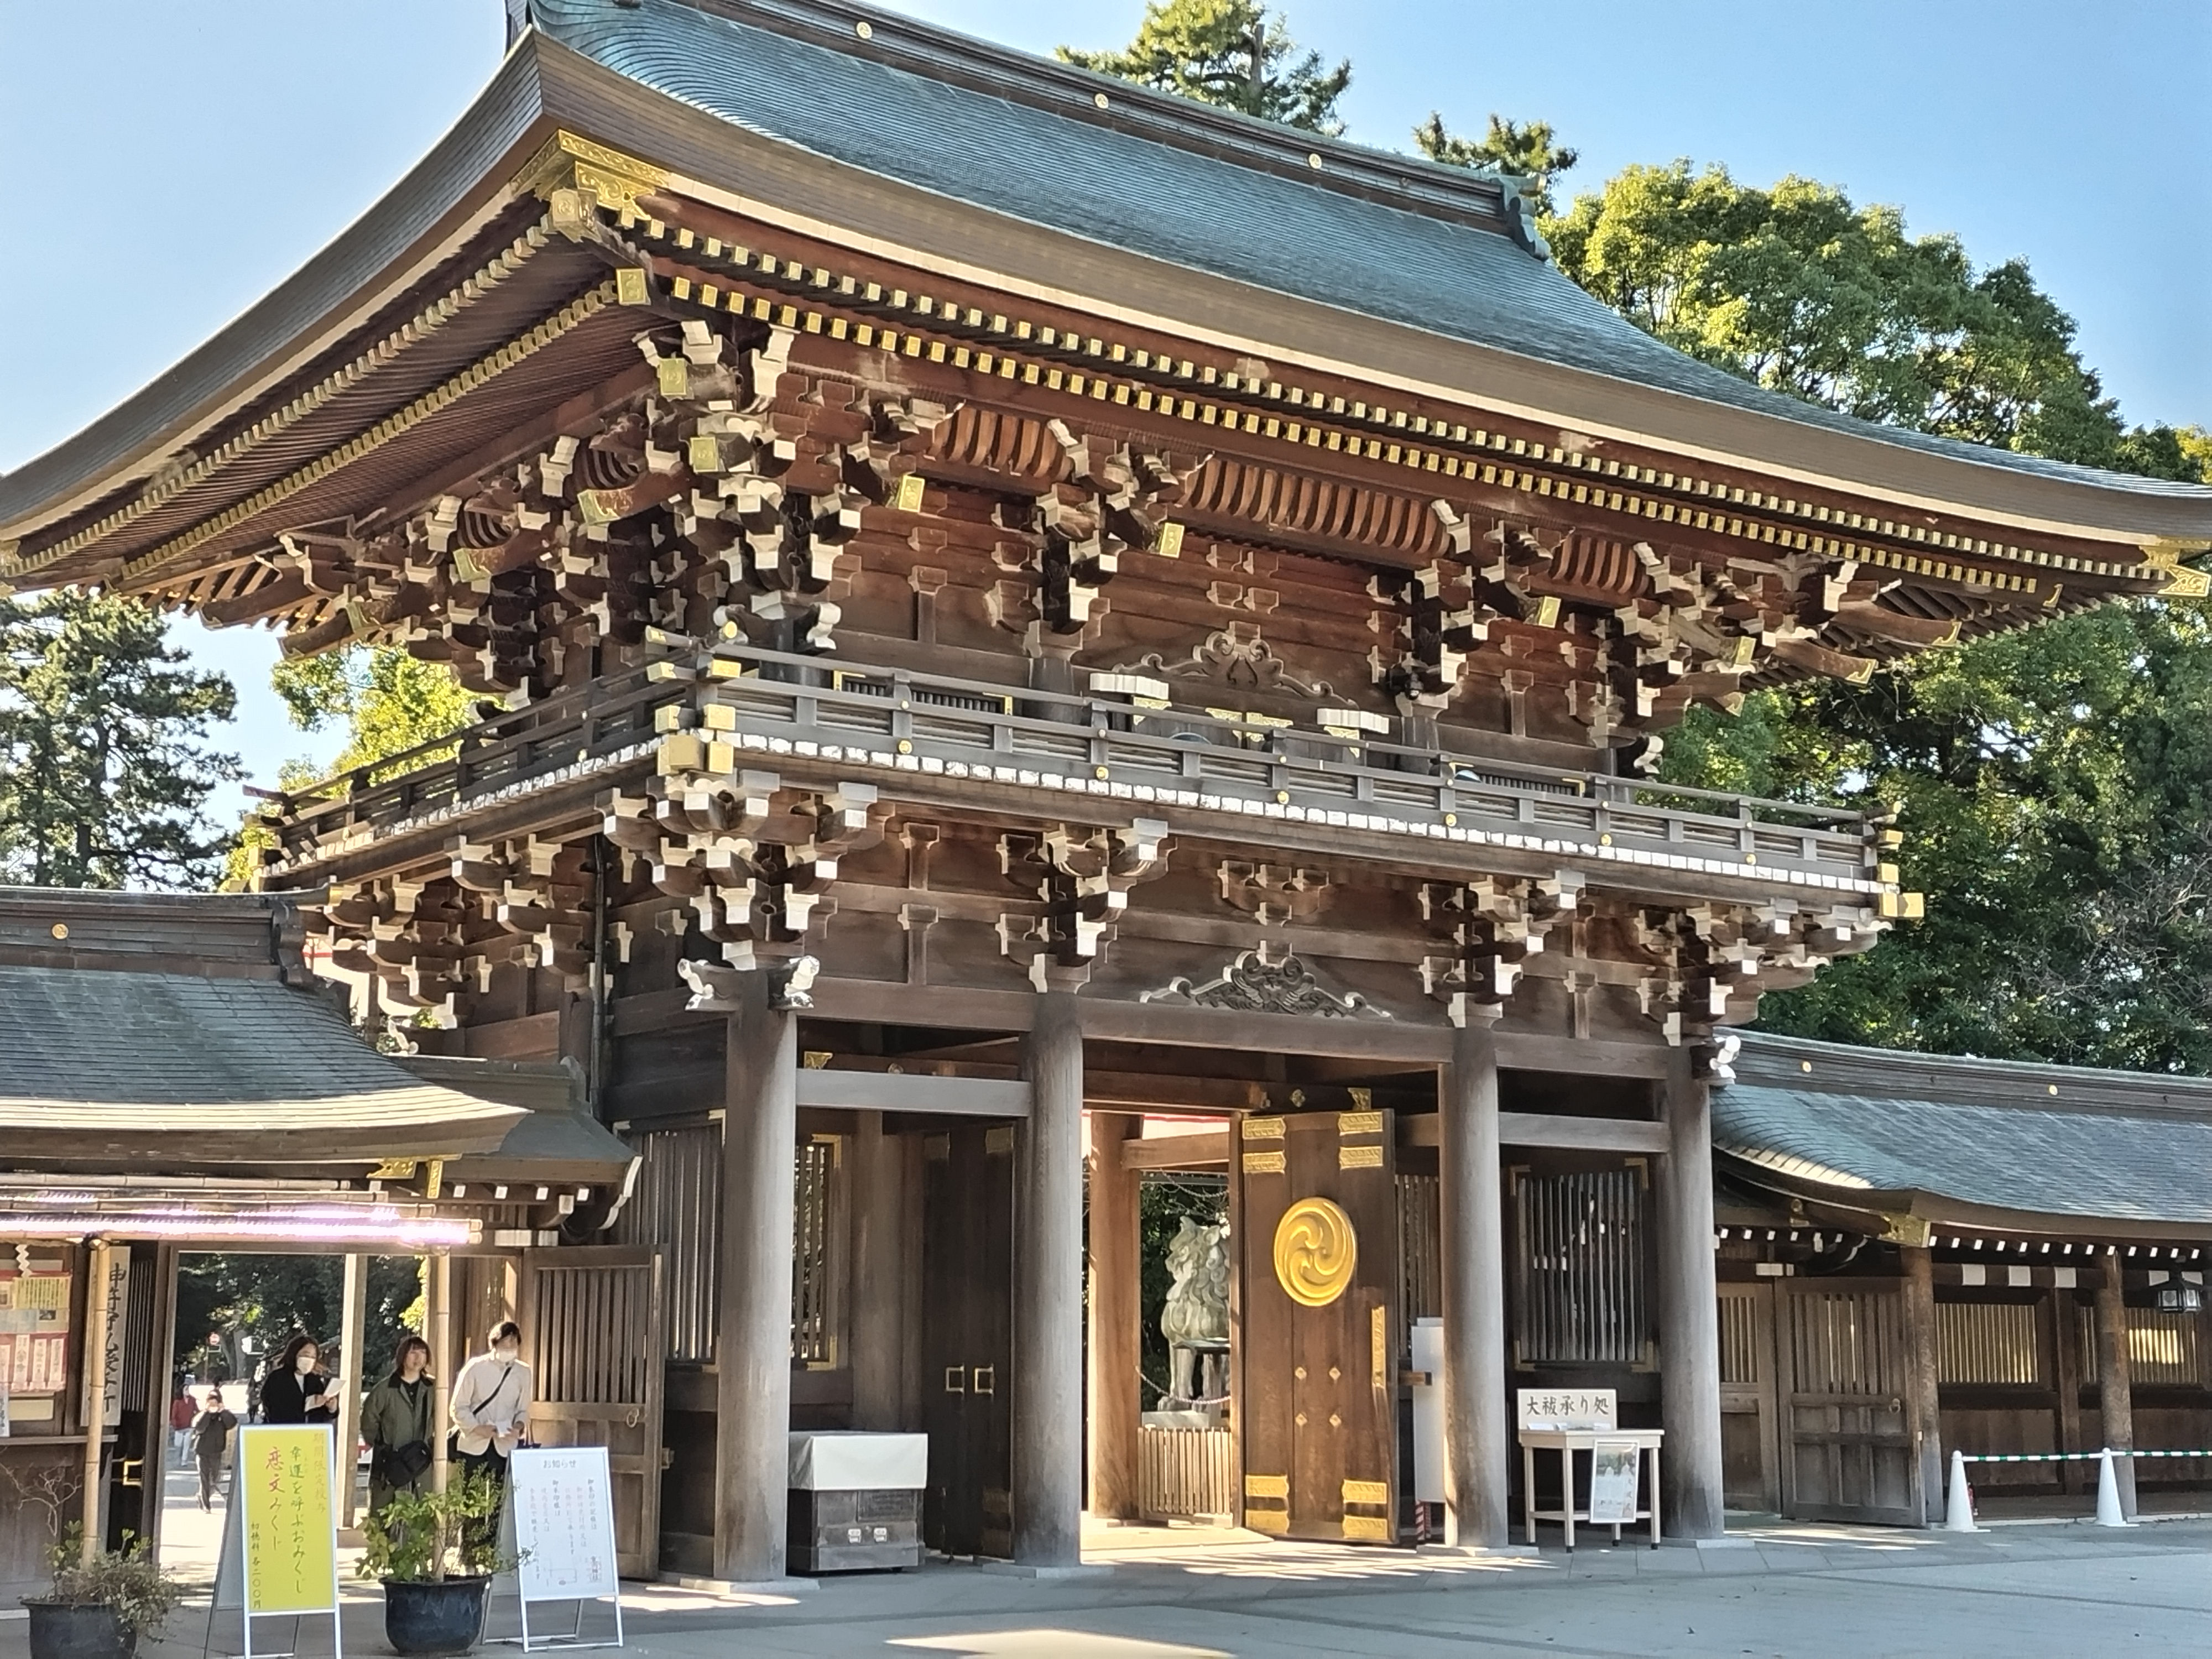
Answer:
<svg viewBox="0 0 2212 1659"><path fill-rule="evenodd" d="M1712 1144L1847 1203L1871 1188L2212 1223L2212 1088L2197 1079L1747 1037L1739 1082L1712 1095Z"/></svg>

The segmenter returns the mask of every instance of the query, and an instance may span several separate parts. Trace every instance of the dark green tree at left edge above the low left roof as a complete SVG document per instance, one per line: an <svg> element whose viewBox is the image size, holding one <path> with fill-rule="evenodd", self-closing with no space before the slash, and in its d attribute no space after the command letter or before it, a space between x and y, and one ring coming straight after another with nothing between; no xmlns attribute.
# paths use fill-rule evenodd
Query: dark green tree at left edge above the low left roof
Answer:
<svg viewBox="0 0 2212 1659"><path fill-rule="evenodd" d="M188 668L159 615L73 588L0 597L0 880L201 887L226 836L210 745L237 695Z"/></svg>

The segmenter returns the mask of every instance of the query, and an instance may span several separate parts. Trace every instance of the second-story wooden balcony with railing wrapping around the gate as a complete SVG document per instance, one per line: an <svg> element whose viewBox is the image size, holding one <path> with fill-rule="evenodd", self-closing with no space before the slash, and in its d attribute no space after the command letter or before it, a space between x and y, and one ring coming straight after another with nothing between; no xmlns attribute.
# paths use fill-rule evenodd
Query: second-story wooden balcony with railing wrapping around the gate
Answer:
<svg viewBox="0 0 2212 1659"><path fill-rule="evenodd" d="M1064 695L750 646L670 655L281 796L263 880L365 874L493 818L500 834L568 838L606 790L655 772L772 772L925 810L1159 818L1301 856L1321 845L1398 865L1579 869L1690 898L1918 907L1885 863L1893 832L1860 812L1413 748L1352 710L1225 717L1097 679Z"/></svg>

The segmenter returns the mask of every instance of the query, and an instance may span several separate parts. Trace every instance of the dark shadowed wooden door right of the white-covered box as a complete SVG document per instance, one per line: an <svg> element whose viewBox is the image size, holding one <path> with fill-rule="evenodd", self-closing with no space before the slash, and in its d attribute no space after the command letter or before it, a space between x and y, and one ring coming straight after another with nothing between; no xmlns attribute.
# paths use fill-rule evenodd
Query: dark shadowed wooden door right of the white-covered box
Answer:
<svg viewBox="0 0 2212 1659"><path fill-rule="evenodd" d="M1013 1124L922 1139L922 1542L1013 1555Z"/></svg>

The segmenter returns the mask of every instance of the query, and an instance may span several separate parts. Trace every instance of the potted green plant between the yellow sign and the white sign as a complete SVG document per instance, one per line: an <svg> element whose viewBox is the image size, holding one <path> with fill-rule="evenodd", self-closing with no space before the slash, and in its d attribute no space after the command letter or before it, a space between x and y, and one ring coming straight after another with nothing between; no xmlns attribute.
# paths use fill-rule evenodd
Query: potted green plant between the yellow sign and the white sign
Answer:
<svg viewBox="0 0 2212 1659"><path fill-rule="evenodd" d="M363 1520L354 1571L385 1586L394 1652L453 1655L482 1641L491 1577L520 1564L500 1555L491 1526L498 1513L498 1484L453 1471L445 1491L394 1493Z"/></svg>

